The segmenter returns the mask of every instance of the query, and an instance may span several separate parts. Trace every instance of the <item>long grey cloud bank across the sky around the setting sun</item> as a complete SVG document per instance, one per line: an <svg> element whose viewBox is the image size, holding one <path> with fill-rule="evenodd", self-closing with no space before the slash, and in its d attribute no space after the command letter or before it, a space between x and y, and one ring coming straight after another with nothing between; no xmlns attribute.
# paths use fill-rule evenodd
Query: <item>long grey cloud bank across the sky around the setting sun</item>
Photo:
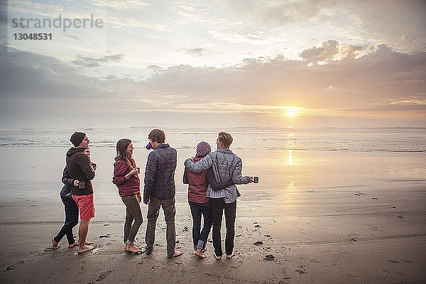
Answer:
<svg viewBox="0 0 426 284"><path fill-rule="evenodd" d="M322 50L315 58L336 56L337 44L332 40L328 43L322 45L328 51ZM353 52L359 49L349 48ZM121 60L120 55L77 58L84 65ZM31 99L49 99L49 106L63 104L64 99L84 99L84 104L70 104L70 108L89 116L108 116L126 109L145 114L226 114L246 121L261 116L276 121L286 114L301 114L300 119L341 114L354 117L373 116L376 110L388 116L413 114L425 119L426 53L405 54L386 45L360 58L329 60L312 67L307 67L305 60L288 60L280 55L248 58L222 68L151 65L153 75L147 80L113 75L97 79L54 58L28 52L3 53L1 60L0 82L4 87L0 99L4 106L16 102L17 108L27 104L23 99L28 104ZM43 111L47 115L50 109Z"/></svg>

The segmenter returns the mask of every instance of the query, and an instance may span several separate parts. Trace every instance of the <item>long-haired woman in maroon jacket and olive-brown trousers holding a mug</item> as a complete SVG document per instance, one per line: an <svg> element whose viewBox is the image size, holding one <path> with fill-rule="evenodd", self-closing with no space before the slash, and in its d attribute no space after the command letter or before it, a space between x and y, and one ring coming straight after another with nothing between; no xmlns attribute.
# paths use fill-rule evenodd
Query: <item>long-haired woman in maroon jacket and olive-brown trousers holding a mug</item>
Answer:
<svg viewBox="0 0 426 284"><path fill-rule="evenodd" d="M131 158L132 155L133 144L131 140L119 140L117 142L117 156L114 163L114 178L112 182L119 187L119 195L126 205L126 222L124 223L125 250L132 253L140 253L141 249L134 245L134 240L143 222L141 206L139 206L139 202L142 200L141 181L138 177L139 168L136 168L136 163Z"/></svg>

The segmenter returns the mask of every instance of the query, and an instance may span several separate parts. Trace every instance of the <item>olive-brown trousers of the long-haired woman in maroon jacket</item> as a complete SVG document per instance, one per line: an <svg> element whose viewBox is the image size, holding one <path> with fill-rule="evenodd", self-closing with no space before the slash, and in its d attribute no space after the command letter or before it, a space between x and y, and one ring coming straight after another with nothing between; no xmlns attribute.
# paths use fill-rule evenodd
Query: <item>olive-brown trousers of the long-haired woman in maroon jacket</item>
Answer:
<svg viewBox="0 0 426 284"><path fill-rule="evenodd" d="M124 242L132 245L138 229L141 226L142 212L139 206L138 195L122 196L121 200L126 205L126 222L124 222ZM133 222L134 220L134 222ZM133 223L133 224L132 224Z"/></svg>

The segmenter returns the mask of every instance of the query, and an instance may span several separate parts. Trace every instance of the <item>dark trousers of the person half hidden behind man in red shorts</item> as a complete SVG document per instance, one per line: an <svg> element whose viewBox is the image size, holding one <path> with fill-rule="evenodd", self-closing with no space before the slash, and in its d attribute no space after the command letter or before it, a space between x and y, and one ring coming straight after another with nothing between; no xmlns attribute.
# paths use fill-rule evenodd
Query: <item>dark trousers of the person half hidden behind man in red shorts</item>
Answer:
<svg viewBox="0 0 426 284"><path fill-rule="evenodd" d="M60 240L67 235L68 244L74 244L74 235L72 234L72 228L78 224L78 206L72 197L60 197L65 209L65 223L60 229L57 236L53 239L59 243Z"/></svg>

